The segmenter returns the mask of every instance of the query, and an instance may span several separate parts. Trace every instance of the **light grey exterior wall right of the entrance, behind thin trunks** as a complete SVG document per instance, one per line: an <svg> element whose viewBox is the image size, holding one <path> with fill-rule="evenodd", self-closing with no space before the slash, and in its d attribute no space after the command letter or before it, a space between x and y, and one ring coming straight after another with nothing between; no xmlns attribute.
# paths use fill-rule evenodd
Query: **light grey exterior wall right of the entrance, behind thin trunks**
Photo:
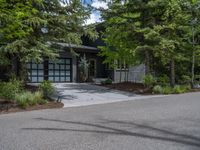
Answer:
<svg viewBox="0 0 200 150"><path fill-rule="evenodd" d="M143 77L145 75L145 65L141 64L138 66L131 67L129 70L122 70L121 73L121 82L125 82L126 75L128 73L128 81L135 83L142 83ZM120 70L115 69L113 80L115 83L120 82Z"/></svg>

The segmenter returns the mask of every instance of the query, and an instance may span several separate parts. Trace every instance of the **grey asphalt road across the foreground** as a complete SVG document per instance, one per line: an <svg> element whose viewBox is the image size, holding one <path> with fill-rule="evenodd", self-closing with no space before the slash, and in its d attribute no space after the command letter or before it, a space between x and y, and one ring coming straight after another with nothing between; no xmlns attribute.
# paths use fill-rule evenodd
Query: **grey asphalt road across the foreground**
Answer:
<svg viewBox="0 0 200 150"><path fill-rule="evenodd" d="M200 93L0 115L0 150L200 150Z"/></svg>

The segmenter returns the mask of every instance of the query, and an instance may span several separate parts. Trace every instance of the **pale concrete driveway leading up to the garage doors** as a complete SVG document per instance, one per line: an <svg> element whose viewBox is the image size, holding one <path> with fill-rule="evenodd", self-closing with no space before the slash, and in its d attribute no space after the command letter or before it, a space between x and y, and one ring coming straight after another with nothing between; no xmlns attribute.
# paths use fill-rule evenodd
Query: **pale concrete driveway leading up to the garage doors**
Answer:
<svg viewBox="0 0 200 150"><path fill-rule="evenodd" d="M86 106L152 97L112 90L88 83L55 83L54 86L62 98L64 107Z"/></svg>

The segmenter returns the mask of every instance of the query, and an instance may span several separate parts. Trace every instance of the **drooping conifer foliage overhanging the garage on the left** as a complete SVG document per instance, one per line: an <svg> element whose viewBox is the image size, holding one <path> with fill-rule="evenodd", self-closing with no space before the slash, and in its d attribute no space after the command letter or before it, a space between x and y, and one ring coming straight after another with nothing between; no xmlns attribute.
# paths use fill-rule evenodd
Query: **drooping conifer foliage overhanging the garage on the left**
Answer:
<svg viewBox="0 0 200 150"><path fill-rule="evenodd" d="M79 0L0 0L0 64L15 56L24 68L27 61L58 56L55 42L79 45L82 35L96 38L94 27L84 25L89 15Z"/></svg>

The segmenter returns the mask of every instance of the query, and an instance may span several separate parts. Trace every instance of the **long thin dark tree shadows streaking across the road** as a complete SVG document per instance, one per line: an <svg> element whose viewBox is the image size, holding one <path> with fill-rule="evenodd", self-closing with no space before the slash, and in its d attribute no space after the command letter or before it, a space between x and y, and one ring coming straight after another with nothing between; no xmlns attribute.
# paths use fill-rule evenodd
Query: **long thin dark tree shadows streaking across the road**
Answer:
<svg viewBox="0 0 200 150"><path fill-rule="evenodd" d="M184 144L187 146L196 146L200 147L200 137L184 134L184 133L176 133L173 131L156 128L153 126L138 124L135 122L126 122L126 121L115 121L115 120L103 120L103 123L86 123L79 121L64 121L57 119L46 119L46 118L35 118L37 120L43 121L53 121L65 124L73 124L73 125L82 125L84 127L92 127L89 129L68 129L68 128L22 128L22 130L31 130L31 131L66 131L66 132L79 132L79 133L97 133L97 134L109 134L109 135L118 135L118 136L132 136L139 137L145 139L152 140L160 140L172 143ZM104 125L106 124L106 125ZM108 126L110 124L110 126ZM112 125L112 126L111 126ZM121 129L122 125L131 127L131 131L127 129ZM133 132L133 130L137 132ZM138 131L139 129L139 131ZM145 132L142 132L145 130Z"/></svg>

